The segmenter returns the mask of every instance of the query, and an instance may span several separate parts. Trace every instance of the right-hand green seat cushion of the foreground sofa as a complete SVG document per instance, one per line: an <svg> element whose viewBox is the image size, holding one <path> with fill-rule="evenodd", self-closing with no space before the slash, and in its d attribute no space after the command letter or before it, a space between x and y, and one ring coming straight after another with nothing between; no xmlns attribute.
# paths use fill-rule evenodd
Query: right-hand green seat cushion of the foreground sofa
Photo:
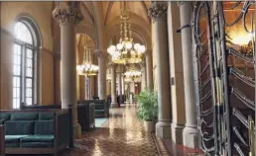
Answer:
<svg viewBox="0 0 256 156"><path fill-rule="evenodd" d="M54 135L29 135L21 138L21 142L54 142Z"/></svg>

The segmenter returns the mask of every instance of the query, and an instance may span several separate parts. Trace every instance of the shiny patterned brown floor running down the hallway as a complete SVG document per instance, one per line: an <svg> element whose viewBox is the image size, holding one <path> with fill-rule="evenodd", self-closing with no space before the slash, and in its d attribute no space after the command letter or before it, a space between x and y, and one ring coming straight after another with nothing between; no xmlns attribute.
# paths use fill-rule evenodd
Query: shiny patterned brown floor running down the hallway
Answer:
<svg viewBox="0 0 256 156"><path fill-rule="evenodd" d="M110 110L109 119L101 127L85 132L75 141L76 148L68 156L156 156L153 137L146 133L136 117L134 105ZM68 153L68 154L67 154Z"/></svg>

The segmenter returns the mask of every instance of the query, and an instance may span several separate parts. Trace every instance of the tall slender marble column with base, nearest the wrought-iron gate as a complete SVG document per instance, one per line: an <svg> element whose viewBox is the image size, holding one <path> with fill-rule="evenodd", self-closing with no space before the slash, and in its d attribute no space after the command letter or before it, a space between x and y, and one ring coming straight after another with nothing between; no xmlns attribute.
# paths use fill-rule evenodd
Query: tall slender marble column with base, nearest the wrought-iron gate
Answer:
<svg viewBox="0 0 256 156"><path fill-rule="evenodd" d="M181 27L191 24L192 1L180 1ZM186 27L182 30L183 63L184 63L184 90L186 127L184 128L184 145L195 148L198 146L198 131L196 128L194 86L192 73L192 29Z"/></svg>

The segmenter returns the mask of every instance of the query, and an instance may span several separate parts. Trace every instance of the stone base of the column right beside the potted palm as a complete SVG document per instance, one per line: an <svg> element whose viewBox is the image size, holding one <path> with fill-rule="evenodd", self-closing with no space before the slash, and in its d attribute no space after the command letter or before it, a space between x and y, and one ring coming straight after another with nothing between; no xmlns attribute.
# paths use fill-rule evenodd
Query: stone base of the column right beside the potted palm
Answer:
<svg viewBox="0 0 256 156"><path fill-rule="evenodd" d="M158 121L156 124L156 135L161 138L171 138L171 122Z"/></svg>

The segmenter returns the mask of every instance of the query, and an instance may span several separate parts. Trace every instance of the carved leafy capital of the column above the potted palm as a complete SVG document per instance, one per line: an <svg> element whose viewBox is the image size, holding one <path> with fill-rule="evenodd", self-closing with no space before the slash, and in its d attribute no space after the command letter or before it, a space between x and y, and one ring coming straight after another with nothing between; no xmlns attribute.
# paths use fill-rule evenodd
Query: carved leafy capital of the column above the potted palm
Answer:
<svg viewBox="0 0 256 156"><path fill-rule="evenodd" d="M152 18L153 22L159 19L167 19L167 2L152 2L148 9L148 15Z"/></svg>

